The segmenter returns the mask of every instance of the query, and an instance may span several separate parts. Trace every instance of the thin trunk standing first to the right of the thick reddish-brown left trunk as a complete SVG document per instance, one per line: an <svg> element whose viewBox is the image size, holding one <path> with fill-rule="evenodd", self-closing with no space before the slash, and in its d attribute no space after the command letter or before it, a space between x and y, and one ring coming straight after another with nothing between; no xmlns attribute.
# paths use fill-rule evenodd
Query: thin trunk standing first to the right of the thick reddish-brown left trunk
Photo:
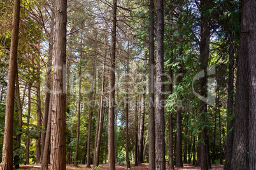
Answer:
<svg viewBox="0 0 256 170"><path fill-rule="evenodd" d="M82 51L82 46L81 46ZM82 60L82 53L80 56L80 61ZM81 65L81 63L80 63ZM79 77L81 77L81 66L79 70ZM79 135L80 135L80 112L81 112L81 78L79 79L79 91L78 91L78 126L77 126L77 136L76 136L76 157L75 166L78 166L78 148L79 148Z"/></svg>

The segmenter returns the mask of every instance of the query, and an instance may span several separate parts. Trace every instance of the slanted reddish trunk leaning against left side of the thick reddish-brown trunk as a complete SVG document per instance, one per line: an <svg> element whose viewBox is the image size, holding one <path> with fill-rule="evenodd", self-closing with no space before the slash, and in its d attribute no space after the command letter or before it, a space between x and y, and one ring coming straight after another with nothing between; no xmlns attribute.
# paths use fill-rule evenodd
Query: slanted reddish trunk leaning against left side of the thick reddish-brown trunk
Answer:
<svg viewBox="0 0 256 170"><path fill-rule="evenodd" d="M47 129L46 129L46 135L45 135L45 145L43 148L44 152L42 155L42 163L41 163L41 169L47 170L48 169L48 152L50 149L50 138L51 138L51 121L52 121L52 96L49 101L49 110L48 110L48 120L47 120Z"/></svg>

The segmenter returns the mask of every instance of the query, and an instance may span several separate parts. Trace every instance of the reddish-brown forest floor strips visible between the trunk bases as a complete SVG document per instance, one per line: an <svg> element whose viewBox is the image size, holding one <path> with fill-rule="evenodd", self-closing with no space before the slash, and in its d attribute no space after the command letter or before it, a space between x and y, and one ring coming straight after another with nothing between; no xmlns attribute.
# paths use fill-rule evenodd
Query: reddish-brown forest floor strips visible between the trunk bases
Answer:
<svg viewBox="0 0 256 170"><path fill-rule="evenodd" d="M167 166L166 166L167 167ZM212 164L211 165L213 170L223 170L223 166ZM101 165L101 168L103 170L108 169L108 165ZM39 165L31 164L31 165L21 165L20 170L22 169L40 169ZM78 167L67 165L67 170L89 170L91 168L87 168L86 165L79 165ZM126 169L126 165L116 165L117 170ZM142 170L142 169L148 169L148 164L139 164L139 166L134 167L134 164L131 164L131 169L134 170ZM200 167L194 167L189 164L184 164L184 167L175 167L174 169L183 170L183 169L190 169L190 170L200 170Z"/></svg>

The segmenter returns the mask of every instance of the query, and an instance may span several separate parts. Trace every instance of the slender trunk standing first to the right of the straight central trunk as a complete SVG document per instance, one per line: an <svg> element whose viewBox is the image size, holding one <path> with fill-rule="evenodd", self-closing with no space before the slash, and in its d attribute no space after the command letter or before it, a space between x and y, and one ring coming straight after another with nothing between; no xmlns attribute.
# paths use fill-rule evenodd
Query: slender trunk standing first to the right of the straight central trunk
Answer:
<svg viewBox="0 0 256 170"><path fill-rule="evenodd" d="M129 82L129 42L128 42L128 57L127 57L127 75L126 81ZM125 103L125 115L126 115L126 168L131 169L129 160L129 84L126 84L126 103Z"/></svg>

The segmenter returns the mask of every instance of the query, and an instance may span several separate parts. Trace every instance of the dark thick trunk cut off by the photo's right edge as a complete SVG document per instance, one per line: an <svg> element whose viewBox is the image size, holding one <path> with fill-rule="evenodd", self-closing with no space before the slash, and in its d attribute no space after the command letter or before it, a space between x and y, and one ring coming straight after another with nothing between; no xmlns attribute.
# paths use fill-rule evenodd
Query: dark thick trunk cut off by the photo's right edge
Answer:
<svg viewBox="0 0 256 170"><path fill-rule="evenodd" d="M248 60L249 62L249 169L256 169L256 2L252 0L245 1L244 6L246 11L243 11L246 25L249 33L248 37Z"/></svg>

